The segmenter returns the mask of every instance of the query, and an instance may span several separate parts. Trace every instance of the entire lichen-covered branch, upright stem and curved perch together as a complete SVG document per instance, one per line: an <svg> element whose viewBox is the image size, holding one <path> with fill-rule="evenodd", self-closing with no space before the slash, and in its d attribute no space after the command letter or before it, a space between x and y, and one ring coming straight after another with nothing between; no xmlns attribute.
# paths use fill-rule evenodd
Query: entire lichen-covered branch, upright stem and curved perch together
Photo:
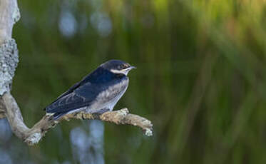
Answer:
<svg viewBox="0 0 266 164"><path fill-rule="evenodd" d="M13 133L29 145L39 143L45 133L63 120L98 119L116 124L129 124L142 128L145 135L153 135L153 124L146 118L131 114L127 108L103 114L71 113L54 121L53 116L45 115L33 128L28 128L19 106L11 95L11 83L19 62L16 41L12 39L12 29L20 14L16 0L0 0L0 118L7 118Z"/></svg>

